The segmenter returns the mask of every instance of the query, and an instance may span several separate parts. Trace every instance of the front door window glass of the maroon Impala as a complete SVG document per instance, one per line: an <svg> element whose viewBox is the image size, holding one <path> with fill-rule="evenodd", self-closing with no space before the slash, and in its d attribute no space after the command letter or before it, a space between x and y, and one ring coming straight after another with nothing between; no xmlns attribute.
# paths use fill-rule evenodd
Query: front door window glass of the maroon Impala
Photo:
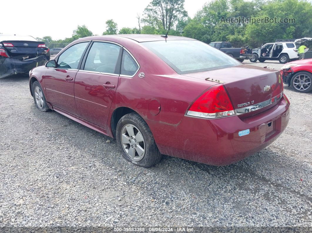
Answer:
<svg viewBox="0 0 312 233"><path fill-rule="evenodd" d="M75 44L66 49L57 60L57 68L78 69L82 54L89 42Z"/></svg>

